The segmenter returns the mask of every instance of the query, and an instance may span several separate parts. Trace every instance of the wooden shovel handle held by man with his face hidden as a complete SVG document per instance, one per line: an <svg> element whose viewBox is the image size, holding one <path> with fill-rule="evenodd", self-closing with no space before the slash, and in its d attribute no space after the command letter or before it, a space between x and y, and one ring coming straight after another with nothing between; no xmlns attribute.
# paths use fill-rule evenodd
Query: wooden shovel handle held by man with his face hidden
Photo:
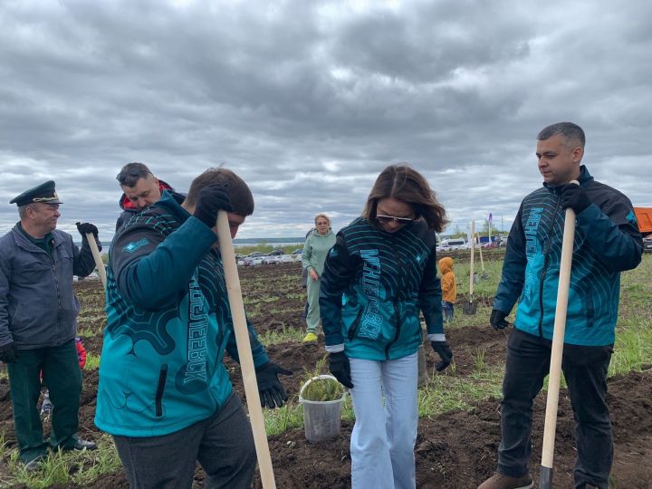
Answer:
<svg viewBox="0 0 652 489"><path fill-rule="evenodd" d="M245 383L246 404L254 432L254 444L256 456L258 457L258 468L261 473L261 482L264 489L274 489L276 483L273 476L272 457L270 456L267 435L264 429L263 408L261 408L260 395L258 394L258 382L255 377L249 330L246 326L245 305L243 304L240 289L240 278L235 264L235 252L231 242L228 218L226 212L222 210L217 213L217 239L222 261L224 262L226 292L228 293L231 316L234 322L235 342L240 357L243 382Z"/></svg>

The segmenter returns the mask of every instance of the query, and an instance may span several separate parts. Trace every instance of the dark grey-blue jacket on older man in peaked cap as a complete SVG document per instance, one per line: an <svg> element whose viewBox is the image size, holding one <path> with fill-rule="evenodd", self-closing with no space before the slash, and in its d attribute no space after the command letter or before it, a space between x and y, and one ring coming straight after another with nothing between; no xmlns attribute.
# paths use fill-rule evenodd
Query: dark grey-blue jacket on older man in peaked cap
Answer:
<svg viewBox="0 0 652 489"><path fill-rule="evenodd" d="M72 275L95 268L84 238L82 250L72 236L54 230L52 257L14 228L0 238L0 346L12 340L19 349L59 346L77 330L79 301Z"/></svg>

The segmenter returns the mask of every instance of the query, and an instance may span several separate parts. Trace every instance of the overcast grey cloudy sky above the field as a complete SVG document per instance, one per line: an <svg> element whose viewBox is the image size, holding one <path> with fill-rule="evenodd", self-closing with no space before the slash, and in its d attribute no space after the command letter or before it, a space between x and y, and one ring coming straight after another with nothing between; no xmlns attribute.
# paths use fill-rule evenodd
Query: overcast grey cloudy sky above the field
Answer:
<svg viewBox="0 0 652 489"><path fill-rule="evenodd" d="M254 216L238 237L297 236L360 215L408 162L465 230L508 229L542 183L536 134L587 133L584 163L652 206L652 3L0 2L0 235L47 179L59 228L109 240L120 168L179 191L224 164Z"/></svg>

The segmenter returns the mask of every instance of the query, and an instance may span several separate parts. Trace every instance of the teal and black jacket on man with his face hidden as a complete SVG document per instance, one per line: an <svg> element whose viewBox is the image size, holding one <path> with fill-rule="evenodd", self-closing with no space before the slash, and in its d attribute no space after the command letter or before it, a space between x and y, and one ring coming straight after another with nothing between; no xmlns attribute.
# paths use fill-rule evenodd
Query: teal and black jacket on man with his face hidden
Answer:
<svg viewBox="0 0 652 489"><path fill-rule="evenodd" d="M232 387L233 321L215 233L168 192L113 238L95 424L161 436L212 416ZM255 366L268 361L250 327Z"/></svg>

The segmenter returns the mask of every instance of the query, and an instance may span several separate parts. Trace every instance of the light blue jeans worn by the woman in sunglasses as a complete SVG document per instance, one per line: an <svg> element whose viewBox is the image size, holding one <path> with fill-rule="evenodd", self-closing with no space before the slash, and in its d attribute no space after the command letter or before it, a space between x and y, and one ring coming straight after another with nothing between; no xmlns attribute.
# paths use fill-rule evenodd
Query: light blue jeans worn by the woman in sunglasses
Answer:
<svg viewBox="0 0 652 489"><path fill-rule="evenodd" d="M417 353L398 360L350 359L350 372L356 416L350 440L352 488L414 489Z"/></svg>

